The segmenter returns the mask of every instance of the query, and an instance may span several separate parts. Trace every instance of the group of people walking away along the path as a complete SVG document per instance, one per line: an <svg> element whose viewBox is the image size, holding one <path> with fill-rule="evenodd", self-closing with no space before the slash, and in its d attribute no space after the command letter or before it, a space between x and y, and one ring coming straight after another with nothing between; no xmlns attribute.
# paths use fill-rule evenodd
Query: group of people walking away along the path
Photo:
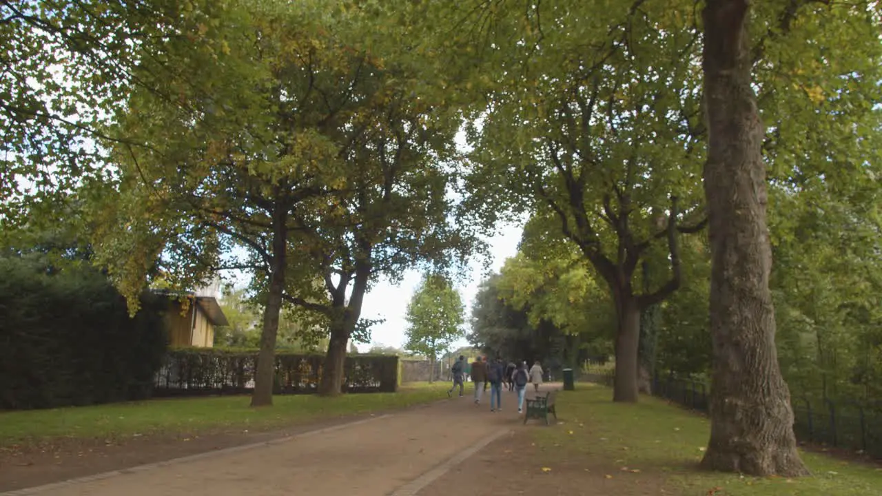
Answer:
<svg viewBox="0 0 882 496"><path fill-rule="evenodd" d="M460 387L460 396L463 395L465 389L466 378L466 357L460 355L460 358L453 364L451 372L453 375L453 387L447 391L448 396L453 395L453 391ZM533 366L527 370L527 362L523 361L516 365L512 362L503 364L502 358L498 358L492 362L486 357L477 357L475 362L471 364L471 379L475 383L475 404L481 404L481 399L487 387L490 387L490 411L500 410L502 407L502 389L507 387L509 391L518 393L518 413L524 410L524 396L527 393L527 384L532 383L536 392L539 391L539 385L542 384L542 365L534 362Z"/></svg>

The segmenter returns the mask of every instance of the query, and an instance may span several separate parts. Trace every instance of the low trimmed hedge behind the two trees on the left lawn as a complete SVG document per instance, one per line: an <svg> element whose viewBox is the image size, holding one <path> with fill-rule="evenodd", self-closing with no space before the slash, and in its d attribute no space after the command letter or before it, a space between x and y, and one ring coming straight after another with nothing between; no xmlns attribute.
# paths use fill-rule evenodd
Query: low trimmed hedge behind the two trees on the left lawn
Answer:
<svg viewBox="0 0 882 496"><path fill-rule="evenodd" d="M315 393L323 355L276 351L277 395ZM257 349L180 348L168 351L153 387L155 396L241 395L253 390ZM343 391L394 392L398 357L351 355L344 365Z"/></svg>

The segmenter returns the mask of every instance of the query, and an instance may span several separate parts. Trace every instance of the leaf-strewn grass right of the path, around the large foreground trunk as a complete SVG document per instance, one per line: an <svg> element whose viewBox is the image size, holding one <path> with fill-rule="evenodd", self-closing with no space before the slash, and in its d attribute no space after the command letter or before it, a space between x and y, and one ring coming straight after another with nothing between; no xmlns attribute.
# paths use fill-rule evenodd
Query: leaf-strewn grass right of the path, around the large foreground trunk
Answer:
<svg viewBox="0 0 882 496"><path fill-rule="evenodd" d="M865 496L882 494L882 469L803 453L813 476L741 477L698 470L710 424L704 417L641 397L636 405L610 401L607 387L577 384L561 392L563 425L532 430L549 475L554 464L594 461L604 477L662 478L664 493L684 496ZM585 469L586 471L589 469ZM635 481L636 482L636 481Z"/></svg>

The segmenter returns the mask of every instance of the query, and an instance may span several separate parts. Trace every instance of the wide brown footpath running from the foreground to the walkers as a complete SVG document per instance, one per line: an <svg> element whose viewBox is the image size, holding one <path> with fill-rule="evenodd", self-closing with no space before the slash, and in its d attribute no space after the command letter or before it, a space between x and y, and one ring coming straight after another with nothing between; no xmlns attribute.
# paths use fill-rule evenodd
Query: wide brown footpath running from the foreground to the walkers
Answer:
<svg viewBox="0 0 882 496"><path fill-rule="evenodd" d="M496 413L488 395L475 405L471 393L467 387L465 397L415 410L0 496L412 496L519 426L513 393L503 393Z"/></svg>

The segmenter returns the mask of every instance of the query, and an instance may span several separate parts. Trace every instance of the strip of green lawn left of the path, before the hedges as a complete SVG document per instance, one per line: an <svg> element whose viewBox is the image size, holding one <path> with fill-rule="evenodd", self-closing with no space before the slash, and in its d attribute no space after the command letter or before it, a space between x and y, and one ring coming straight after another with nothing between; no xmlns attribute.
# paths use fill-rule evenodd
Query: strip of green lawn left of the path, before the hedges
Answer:
<svg viewBox="0 0 882 496"><path fill-rule="evenodd" d="M266 431L318 421L432 402L446 398L446 382L414 383L398 393L279 395L273 407L252 409L248 396L182 398L126 402L55 410L0 413L0 447L60 439L107 439L150 434Z"/></svg>

